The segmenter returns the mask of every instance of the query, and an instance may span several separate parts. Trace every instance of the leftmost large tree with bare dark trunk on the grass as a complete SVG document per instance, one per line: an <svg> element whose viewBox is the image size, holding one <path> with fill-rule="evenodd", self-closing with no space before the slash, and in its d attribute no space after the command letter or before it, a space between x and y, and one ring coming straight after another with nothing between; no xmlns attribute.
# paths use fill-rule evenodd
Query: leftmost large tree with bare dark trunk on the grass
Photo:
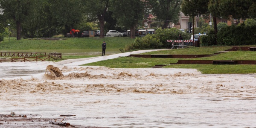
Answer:
<svg viewBox="0 0 256 128"><path fill-rule="evenodd" d="M0 0L0 8L6 19L12 19L17 27L17 40L21 36L21 23L32 13L37 0Z"/></svg>

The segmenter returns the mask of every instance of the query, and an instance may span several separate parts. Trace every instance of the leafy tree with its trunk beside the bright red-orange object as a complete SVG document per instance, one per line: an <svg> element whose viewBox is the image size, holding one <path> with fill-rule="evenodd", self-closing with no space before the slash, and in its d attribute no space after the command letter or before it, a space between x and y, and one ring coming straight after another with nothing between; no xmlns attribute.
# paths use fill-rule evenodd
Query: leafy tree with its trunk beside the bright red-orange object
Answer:
<svg viewBox="0 0 256 128"><path fill-rule="evenodd" d="M84 0L49 0L52 15L59 24L68 26L71 32L74 24L82 19L83 2ZM72 36L75 37L73 32Z"/></svg>

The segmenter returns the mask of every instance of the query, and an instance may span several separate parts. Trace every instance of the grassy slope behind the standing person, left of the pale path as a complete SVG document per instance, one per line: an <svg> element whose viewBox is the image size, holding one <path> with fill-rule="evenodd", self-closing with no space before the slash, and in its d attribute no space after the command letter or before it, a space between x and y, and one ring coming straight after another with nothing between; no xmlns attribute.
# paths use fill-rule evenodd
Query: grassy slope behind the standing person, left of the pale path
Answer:
<svg viewBox="0 0 256 128"><path fill-rule="evenodd" d="M134 42L127 37L109 38L62 38L62 40L22 39L8 40L0 43L0 50L28 50L28 49L101 49L101 44L106 41L109 48L119 49Z"/></svg>

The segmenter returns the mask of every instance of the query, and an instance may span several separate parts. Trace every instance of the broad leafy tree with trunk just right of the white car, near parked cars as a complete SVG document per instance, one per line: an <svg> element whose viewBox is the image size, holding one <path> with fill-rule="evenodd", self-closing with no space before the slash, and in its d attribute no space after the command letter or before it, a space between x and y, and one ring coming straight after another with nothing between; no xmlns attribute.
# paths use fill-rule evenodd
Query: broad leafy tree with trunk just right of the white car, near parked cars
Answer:
<svg viewBox="0 0 256 128"><path fill-rule="evenodd" d="M135 38L135 28L143 20L144 2L142 0L111 0L111 11L119 26L130 28L130 37Z"/></svg>

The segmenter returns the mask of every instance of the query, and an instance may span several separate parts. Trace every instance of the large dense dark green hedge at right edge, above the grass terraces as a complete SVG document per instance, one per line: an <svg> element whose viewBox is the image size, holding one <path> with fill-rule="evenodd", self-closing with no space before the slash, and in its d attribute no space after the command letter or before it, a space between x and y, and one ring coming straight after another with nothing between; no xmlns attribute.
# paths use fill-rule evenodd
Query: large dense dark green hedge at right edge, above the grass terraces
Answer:
<svg viewBox="0 0 256 128"><path fill-rule="evenodd" d="M256 26L226 26L218 32L218 44L256 44Z"/></svg>

